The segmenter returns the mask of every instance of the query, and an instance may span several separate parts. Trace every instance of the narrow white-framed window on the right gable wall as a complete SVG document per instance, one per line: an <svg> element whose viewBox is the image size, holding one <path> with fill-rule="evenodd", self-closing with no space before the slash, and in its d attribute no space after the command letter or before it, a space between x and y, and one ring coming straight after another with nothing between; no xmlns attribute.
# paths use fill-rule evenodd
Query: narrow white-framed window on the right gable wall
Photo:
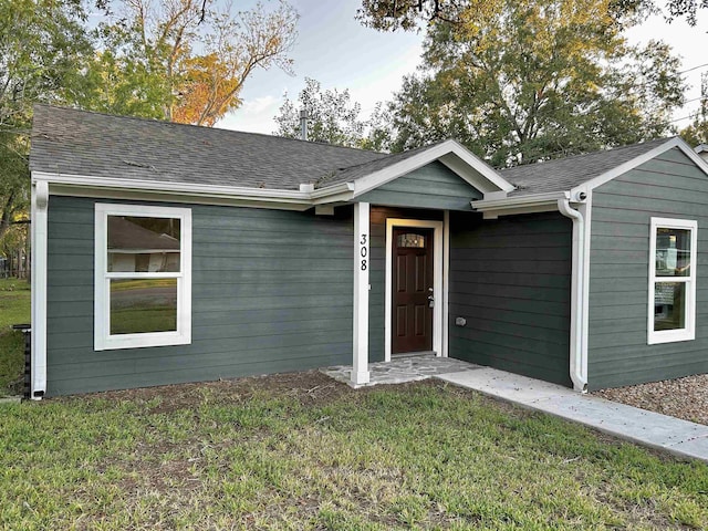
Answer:
<svg viewBox="0 0 708 531"><path fill-rule="evenodd" d="M698 223L652 218L648 344L696 337Z"/></svg>

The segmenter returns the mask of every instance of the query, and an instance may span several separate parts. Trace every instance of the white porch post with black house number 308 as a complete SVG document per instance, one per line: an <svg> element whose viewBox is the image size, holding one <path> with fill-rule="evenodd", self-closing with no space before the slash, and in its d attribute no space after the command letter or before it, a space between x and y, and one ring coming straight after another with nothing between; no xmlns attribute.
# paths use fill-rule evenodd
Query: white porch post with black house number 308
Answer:
<svg viewBox="0 0 708 531"><path fill-rule="evenodd" d="M354 204L354 336L351 381L368 383L368 202Z"/></svg>

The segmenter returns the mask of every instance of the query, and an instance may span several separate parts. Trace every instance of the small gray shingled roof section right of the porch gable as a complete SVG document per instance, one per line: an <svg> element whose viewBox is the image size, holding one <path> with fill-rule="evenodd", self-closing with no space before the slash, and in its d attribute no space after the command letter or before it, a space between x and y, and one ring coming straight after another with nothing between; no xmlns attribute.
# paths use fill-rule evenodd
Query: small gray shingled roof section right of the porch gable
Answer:
<svg viewBox="0 0 708 531"><path fill-rule="evenodd" d="M546 191L564 191L644 155L666 142L667 138L657 138L615 149L517 166L502 169L499 173L506 180L517 187L516 190L509 194L509 197Z"/></svg>

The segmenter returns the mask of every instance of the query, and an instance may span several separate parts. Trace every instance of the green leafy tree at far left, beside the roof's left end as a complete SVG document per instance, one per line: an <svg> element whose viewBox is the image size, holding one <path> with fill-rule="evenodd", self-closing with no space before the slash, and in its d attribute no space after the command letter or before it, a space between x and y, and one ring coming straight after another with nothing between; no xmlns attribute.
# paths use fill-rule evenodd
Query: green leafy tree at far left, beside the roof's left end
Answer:
<svg viewBox="0 0 708 531"><path fill-rule="evenodd" d="M0 0L0 239L29 204L35 102L70 104L92 56L79 0Z"/></svg>

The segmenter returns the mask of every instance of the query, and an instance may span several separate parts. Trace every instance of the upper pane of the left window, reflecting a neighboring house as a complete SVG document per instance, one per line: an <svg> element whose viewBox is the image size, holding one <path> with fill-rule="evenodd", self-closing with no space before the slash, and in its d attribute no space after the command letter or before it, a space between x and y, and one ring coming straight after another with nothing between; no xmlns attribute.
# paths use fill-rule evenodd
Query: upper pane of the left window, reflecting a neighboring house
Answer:
<svg viewBox="0 0 708 531"><path fill-rule="evenodd" d="M108 216L108 271L179 271L179 219Z"/></svg>

